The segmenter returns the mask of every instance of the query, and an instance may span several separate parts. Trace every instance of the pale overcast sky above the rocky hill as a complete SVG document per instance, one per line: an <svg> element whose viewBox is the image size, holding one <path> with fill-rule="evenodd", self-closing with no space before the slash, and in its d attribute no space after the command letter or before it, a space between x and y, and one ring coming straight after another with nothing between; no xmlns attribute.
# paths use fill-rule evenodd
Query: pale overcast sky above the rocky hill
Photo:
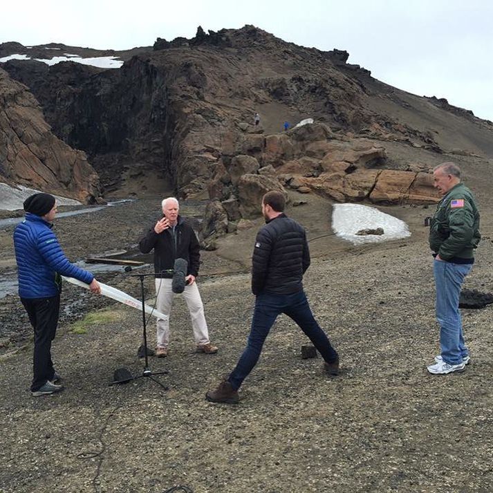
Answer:
<svg viewBox="0 0 493 493"><path fill-rule="evenodd" d="M253 24L285 41L338 48L349 63L493 120L490 0L24 0L1 8L0 42L113 48Z"/></svg>

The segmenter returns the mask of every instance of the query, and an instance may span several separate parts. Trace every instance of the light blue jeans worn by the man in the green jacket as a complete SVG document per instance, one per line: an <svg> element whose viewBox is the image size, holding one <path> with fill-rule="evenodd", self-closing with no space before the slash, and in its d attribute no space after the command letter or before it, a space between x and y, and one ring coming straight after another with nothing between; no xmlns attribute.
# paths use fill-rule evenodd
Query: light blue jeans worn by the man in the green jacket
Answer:
<svg viewBox="0 0 493 493"><path fill-rule="evenodd" d="M472 263L451 263L435 260L433 272L436 286L436 319L440 324L440 350L448 364L461 364L469 354L464 342L458 300L464 278Z"/></svg>

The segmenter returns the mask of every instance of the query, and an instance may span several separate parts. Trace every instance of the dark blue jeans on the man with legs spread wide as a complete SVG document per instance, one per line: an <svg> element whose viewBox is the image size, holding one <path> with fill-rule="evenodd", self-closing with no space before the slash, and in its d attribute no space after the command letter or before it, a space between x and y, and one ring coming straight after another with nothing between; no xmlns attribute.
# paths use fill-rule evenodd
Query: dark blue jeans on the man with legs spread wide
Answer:
<svg viewBox="0 0 493 493"><path fill-rule="evenodd" d="M304 291L301 290L290 295L263 293L255 299L248 344L228 378L235 390L239 389L243 380L247 378L257 364L270 328L277 315L281 313L285 313L298 324L326 362L332 363L336 360L337 352L313 317Z"/></svg>

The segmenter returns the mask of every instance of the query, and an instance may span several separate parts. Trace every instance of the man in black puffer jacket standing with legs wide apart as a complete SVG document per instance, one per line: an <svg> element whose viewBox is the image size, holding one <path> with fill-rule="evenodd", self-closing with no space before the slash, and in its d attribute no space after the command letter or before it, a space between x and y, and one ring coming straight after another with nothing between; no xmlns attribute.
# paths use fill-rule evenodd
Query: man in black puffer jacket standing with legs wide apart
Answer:
<svg viewBox="0 0 493 493"><path fill-rule="evenodd" d="M281 313L293 319L325 360L328 375L337 375L339 357L317 324L303 290L303 275L310 266L304 228L283 214L281 192L262 199L266 225L257 234L252 258L252 292L256 295L248 344L236 368L219 386L207 392L211 402L236 404L238 389L259 360L263 342Z"/></svg>

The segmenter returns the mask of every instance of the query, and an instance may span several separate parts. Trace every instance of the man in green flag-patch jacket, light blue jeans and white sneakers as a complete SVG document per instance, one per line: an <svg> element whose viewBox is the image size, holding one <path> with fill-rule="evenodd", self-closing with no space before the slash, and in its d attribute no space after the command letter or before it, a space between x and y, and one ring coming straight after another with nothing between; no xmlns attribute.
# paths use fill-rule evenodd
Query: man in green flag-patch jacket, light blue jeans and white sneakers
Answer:
<svg viewBox="0 0 493 493"><path fill-rule="evenodd" d="M429 246L434 252L436 318L440 324L440 355L429 373L443 375L464 371L469 363L461 312L461 286L474 263L479 234L479 212L472 192L461 183L461 169L443 162L433 172L434 187L443 195L431 219Z"/></svg>

